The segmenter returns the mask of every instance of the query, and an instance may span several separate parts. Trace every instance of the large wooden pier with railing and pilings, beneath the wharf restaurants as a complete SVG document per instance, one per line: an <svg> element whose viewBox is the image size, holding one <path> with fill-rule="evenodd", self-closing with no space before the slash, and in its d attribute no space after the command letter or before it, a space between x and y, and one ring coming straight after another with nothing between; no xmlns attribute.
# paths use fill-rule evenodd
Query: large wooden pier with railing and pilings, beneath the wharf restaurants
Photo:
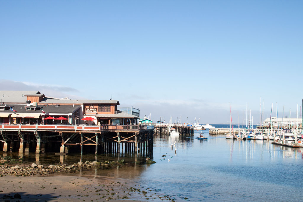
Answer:
<svg viewBox="0 0 303 202"><path fill-rule="evenodd" d="M140 152L152 157L154 126L1 124L4 152Z"/></svg>

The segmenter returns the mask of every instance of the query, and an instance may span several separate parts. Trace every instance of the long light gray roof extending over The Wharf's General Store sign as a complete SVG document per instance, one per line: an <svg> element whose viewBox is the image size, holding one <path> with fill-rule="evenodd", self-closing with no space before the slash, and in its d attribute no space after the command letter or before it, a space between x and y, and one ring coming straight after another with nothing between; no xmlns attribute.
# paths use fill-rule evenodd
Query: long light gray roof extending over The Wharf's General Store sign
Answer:
<svg viewBox="0 0 303 202"><path fill-rule="evenodd" d="M120 105L118 100L69 100L69 99L47 99L44 98L40 104L117 104Z"/></svg>

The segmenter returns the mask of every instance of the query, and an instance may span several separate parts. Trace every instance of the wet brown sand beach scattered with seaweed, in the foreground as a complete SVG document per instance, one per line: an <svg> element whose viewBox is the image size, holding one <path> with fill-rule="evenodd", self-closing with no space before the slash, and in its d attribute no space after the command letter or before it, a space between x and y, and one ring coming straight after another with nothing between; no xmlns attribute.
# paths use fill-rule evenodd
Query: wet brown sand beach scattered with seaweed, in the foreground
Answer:
<svg viewBox="0 0 303 202"><path fill-rule="evenodd" d="M0 177L0 201L174 201L129 180L55 175ZM21 199L14 198L20 194Z"/></svg>

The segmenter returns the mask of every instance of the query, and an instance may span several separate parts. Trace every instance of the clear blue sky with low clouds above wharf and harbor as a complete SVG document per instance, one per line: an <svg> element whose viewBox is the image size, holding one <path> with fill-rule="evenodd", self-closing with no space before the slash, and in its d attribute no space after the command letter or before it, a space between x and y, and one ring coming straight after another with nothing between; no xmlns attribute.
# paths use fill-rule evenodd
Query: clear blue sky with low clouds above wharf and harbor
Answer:
<svg viewBox="0 0 303 202"><path fill-rule="evenodd" d="M229 102L234 117L243 119L248 102L259 120L260 97L265 115L278 102L295 117L302 8L302 1L1 1L1 88L112 97L154 121L227 123Z"/></svg>

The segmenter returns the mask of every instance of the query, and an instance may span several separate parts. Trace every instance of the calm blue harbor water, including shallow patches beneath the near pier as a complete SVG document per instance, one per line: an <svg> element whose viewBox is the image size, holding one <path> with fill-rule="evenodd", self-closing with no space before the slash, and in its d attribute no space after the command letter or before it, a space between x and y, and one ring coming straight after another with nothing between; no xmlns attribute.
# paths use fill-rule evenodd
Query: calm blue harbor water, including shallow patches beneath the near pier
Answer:
<svg viewBox="0 0 303 202"><path fill-rule="evenodd" d="M121 166L93 174L135 181L155 193L174 196L177 201L184 197L191 201L303 200L303 148L293 149L261 140L230 140L224 135L211 136L208 130L202 131L208 141L202 141L196 138L200 132L195 131L193 138L155 136L153 155L156 164ZM176 154L175 147L171 149L175 141ZM35 161L35 154L24 158L28 162ZM82 158L82 161L93 161L95 155L87 154ZM98 161L117 158L97 156ZM133 160L128 154L119 158ZM74 163L80 157L79 154L40 155L40 163L46 164L46 160Z"/></svg>

